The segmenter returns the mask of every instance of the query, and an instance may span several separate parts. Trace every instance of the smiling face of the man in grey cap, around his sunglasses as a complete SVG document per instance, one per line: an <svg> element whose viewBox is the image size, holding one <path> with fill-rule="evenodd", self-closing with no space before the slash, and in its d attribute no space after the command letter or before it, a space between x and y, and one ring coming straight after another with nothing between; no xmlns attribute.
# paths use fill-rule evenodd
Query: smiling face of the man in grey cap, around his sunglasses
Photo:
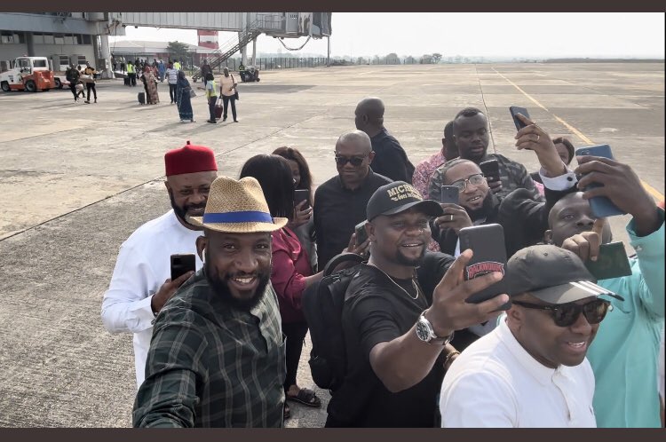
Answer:
<svg viewBox="0 0 666 442"><path fill-rule="evenodd" d="M528 294L517 296L521 301L543 304L542 300ZM587 304L595 296L576 301ZM588 348L597 335L599 324L590 324L583 314L569 327L558 327L547 311L528 309L513 304L507 313L507 324L520 345L545 367L559 365L575 367L583 362Z"/></svg>

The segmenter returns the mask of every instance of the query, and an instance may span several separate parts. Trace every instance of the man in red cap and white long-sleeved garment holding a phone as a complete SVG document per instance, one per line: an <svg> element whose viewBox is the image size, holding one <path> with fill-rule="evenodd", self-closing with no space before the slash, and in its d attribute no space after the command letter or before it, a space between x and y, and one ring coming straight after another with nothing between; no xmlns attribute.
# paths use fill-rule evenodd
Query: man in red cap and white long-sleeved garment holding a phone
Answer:
<svg viewBox="0 0 666 442"><path fill-rule="evenodd" d="M202 228L189 217L202 216L210 185L217 177L215 154L208 147L170 150L164 155L165 185L171 210L148 221L123 242L102 301L102 322L112 333L134 334L137 386L143 383L155 316L192 272L170 280L170 256L196 255ZM196 269L202 261L196 257Z"/></svg>

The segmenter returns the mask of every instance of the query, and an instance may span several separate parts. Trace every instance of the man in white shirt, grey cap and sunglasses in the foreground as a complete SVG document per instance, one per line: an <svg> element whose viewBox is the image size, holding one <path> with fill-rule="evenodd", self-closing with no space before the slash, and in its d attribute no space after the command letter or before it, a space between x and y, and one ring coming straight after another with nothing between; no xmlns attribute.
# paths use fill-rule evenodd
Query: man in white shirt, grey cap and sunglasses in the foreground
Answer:
<svg viewBox="0 0 666 442"><path fill-rule="evenodd" d="M596 427L585 354L613 292L575 253L551 245L516 252L504 281L512 307L463 351L441 386L443 427Z"/></svg>

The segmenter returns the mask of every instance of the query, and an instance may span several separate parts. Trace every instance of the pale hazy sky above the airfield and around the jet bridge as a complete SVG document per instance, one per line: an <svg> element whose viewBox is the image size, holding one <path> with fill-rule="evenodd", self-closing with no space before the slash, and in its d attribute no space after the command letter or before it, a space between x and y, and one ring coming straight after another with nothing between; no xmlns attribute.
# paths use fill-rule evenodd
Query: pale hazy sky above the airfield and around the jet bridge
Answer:
<svg viewBox="0 0 666 442"><path fill-rule="evenodd" d="M334 56L664 57L662 12L333 12L331 26ZM196 31L186 29L128 27L126 34L117 38L197 42ZM219 42L234 36L220 33ZM304 42L284 39L289 47ZM325 55L326 45L311 39L302 51ZM287 52L277 39L258 37L258 51L279 49Z"/></svg>

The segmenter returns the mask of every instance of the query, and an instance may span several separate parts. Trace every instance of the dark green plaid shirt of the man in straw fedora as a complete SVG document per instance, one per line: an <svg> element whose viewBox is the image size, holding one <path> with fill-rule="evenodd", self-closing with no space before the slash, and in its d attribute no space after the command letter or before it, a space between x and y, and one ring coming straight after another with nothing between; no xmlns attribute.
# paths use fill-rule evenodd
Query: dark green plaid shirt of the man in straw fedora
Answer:
<svg viewBox="0 0 666 442"><path fill-rule="evenodd" d="M286 375L271 284L250 312L222 303L202 270L155 320L135 427L281 427Z"/></svg>

